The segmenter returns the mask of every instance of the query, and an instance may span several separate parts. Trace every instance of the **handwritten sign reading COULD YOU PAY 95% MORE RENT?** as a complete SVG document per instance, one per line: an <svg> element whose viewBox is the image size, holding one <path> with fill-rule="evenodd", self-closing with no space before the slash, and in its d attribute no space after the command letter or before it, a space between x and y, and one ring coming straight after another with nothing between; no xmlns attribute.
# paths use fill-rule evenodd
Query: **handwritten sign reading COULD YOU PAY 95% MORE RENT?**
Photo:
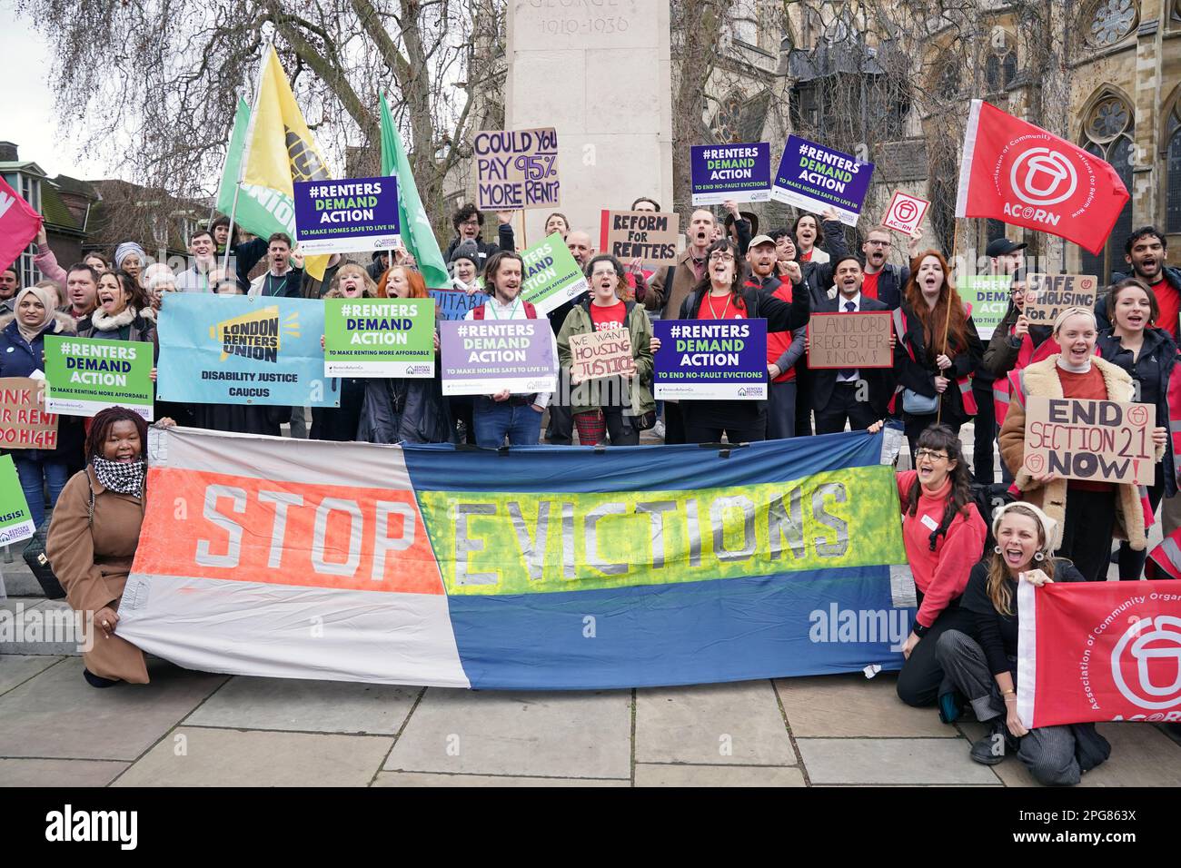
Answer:
<svg viewBox="0 0 1181 868"><path fill-rule="evenodd" d="M477 132L476 207L482 211L518 211L559 204L557 132L536 130Z"/></svg>

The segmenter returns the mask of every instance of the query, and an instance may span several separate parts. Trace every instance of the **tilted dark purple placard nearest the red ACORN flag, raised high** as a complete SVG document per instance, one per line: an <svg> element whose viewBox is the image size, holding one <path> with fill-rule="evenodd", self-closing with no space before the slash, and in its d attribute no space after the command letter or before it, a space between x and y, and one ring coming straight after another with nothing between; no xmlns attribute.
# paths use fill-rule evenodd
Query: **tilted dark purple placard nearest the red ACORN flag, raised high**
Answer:
<svg viewBox="0 0 1181 868"><path fill-rule="evenodd" d="M788 136L771 198L816 214L835 208L842 223L856 226L873 174L873 163Z"/></svg>

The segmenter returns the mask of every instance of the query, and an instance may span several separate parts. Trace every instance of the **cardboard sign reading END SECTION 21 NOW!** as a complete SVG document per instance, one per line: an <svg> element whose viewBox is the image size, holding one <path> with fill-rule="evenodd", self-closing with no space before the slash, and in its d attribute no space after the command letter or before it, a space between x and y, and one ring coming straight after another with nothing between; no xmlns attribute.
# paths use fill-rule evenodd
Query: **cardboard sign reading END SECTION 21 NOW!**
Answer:
<svg viewBox="0 0 1181 868"><path fill-rule="evenodd" d="M1156 476L1151 404L1038 398L1025 402L1026 472L1151 485Z"/></svg>

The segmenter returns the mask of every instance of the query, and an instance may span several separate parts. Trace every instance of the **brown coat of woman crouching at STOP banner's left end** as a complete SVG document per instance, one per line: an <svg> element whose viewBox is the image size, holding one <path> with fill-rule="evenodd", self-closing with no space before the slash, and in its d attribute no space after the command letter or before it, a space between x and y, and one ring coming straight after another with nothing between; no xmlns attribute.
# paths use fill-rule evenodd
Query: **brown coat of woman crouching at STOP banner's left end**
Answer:
<svg viewBox="0 0 1181 868"><path fill-rule="evenodd" d="M94 491L93 527L89 518L91 489ZM76 611L92 615L104 606L118 609L143 518L143 501L107 490L94 477L91 466L74 474L66 483L53 509L45 552ZM103 678L148 683L143 652L120 638L118 627L116 634L109 637L94 625L93 635L93 650L83 655L87 670Z"/></svg>

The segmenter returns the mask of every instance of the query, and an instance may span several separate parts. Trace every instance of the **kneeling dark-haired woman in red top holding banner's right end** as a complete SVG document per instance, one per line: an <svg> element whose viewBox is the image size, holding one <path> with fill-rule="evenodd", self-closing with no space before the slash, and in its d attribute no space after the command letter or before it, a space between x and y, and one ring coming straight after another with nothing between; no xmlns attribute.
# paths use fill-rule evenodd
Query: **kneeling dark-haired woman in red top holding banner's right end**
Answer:
<svg viewBox="0 0 1181 868"><path fill-rule="evenodd" d="M902 645L906 663L898 674L898 696L921 707L935 704L944 680L935 658L939 637L948 629L971 629L972 619L960 611L959 598L984 553L986 528L972 502L964 448L947 425L932 425L919 435L915 468L898 475L902 540L919 605Z"/></svg>

